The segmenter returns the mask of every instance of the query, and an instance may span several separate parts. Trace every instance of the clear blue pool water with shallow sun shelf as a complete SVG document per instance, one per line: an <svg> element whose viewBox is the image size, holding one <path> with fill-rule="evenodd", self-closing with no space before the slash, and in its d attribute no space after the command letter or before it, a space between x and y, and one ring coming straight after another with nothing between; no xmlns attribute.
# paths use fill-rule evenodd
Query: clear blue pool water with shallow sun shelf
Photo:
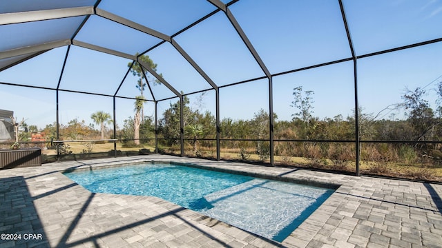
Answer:
<svg viewBox="0 0 442 248"><path fill-rule="evenodd" d="M279 242L334 192L173 164L65 175L90 192L156 196Z"/></svg>

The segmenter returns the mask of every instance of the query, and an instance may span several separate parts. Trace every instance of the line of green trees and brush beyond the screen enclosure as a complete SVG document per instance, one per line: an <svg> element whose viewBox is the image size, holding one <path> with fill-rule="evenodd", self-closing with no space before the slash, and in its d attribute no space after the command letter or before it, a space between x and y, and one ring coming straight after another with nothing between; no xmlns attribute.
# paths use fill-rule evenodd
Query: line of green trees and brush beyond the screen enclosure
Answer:
<svg viewBox="0 0 442 248"><path fill-rule="evenodd" d="M153 63L147 55L139 56L139 60L151 67L152 70L157 70L157 64ZM153 116L144 115L144 102L146 100L146 90L161 82L149 78L142 65L137 61L129 63L128 67L133 75L138 78L134 87L140 92L139 95L135 96L134 115L126 118L122 127L117 127L117 136L113 137L113 132L110 132L111 134L108 136L118 138L127 146L140 146L142 143L155 138L156 132L163 147L180 145L180 101L170 103L169 108L162 113L162 117L158 120L158 128L155 130ZM162 75L160 74L160 76ZM151 89L149 88L149 90ZM430 107L430 102L426 99L427 90L422 87L416 87L413 90L406 89L401 97L401 103L386 107L386 110L397 110L404 113L405 118L401 120L379 118L380 113L366 113L363 107L359 107L357 117L360 124L358 136L361 141L441 141L442 82L439 82L436 88L432 90L435 90L437 96L435 109ZM349 116L337 115L318 118L314 116L314 93L312 90L303 89L302 86L295 86L293 88L293 101L288 104L288 107L291 107L290 111L293 113L291 114L292 119L279 121L278 115L273 113L273 134L274 139L278 141L275 145L275 155L315 156L315 152L306 152L305 149L294 147L294 143L300 141L355 140L355 111L353 110L353 114ZM190 107L187 96L184 96L183 101L182 118L186 145L191 147L191 154L200 155L205 149L213 149L214 147L213 140L216 137L217 128L215 116L209 111L202 112ZM106 128L108 131L111 130L111 128L106 127L106 125L111 124L111 115L104 112L95 112L91 118L100 127L100 137L105 138L104 130ZM45 131L48 134L52 132L52 135L54 130L55 123L45 128ZM97 130L94 129L93 125L86 125L84 121L77 119L71 120L67 125L61 125L60 133L64 137L73 139L97 136ZM231 142L223 141L221 144L223 149L237 149L240 153L244 151L253 152L260 155L262 160L268 158L269 113L260 109L256 110L253 118L249 120L222 118L220 120L220 138L235 140ZM253 141L237 141L244 139ZM290 141L291 143L279 141ZM404 144L410 146L416 156L432 156L434 151L440 148L437 143L430 145L403 143L396 146L403 147ZM376 146L377 154L385 154L385 150L388 150L385 149L385 145L384 148L382 146ZM335 153L336 151L343 152L343 148L341 148L333 147ZM327 156L331 152L325 152L325 150L332 148L330 145L323 145L320 149L322 149L322 156Z"/></svg>

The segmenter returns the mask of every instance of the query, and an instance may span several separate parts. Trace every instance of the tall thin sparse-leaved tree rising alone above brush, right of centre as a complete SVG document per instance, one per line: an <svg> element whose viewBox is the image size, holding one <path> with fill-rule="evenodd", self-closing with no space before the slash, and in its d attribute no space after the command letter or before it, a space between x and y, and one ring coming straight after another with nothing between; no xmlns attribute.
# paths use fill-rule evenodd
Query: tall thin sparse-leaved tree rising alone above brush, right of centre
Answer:
<svg viewBox="0 0 442 248"><path fill-rule="evenodd" d="M291 116L298 116L302 118L302 121L309 126L311 120L311 114L314 113L313 109L313 90L302 91L302 86L295 87L293 89L294 101L291 102L291 107L296 107L299 112L292 114Z"/></svg>

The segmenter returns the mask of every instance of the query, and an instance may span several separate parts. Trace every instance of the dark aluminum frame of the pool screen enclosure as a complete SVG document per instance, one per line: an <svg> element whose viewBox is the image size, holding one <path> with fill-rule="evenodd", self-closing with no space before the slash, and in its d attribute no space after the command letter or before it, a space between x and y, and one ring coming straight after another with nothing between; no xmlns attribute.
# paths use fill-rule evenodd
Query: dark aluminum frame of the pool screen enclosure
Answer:
<svg viewBox="0 0 442 248"><path fill-rule="evenodd" d="M66 65L66 60L68 59L68 54L70 51L70 46L75 45L75 46L79 46L82 48L87 48L90 50L96 50L98 52L104 52L107 54L112 54L114 56L119 56L122 58L126 58L126 59L130 59L132 61L137 61L138 63L140 63L140 65L142 65L142 67L144 68L144 70L147 70L148 72L150 72L151 74L153 74L153 76L155 76L155 78L159 81L161 81L166 87L169 88L169 90L171 90L171 92L173 92L173 94L175 94L175 97L180 99L180 110L181 110L181 117L180 117L180 142L181 142L181 155L184 156L184 123L183 123L183 97L184 94L181 94L180 92L178 92L171 84L169 84L167 81L165 81L164 79L162 79L162 77L157 74L154 70L152 70L151 68L148 67L148 65L144 64L142 61L138 61L137 56L132 55L132 54L126 54L124 52L119 52L116 50L111 50L108 48L103 48L99 45L94 45L94 44L90 44L90 43L85 43L82 41L77 41L75 40L75 37L77 36L79 30L81 30L82 26L84 25L84 23L86 23L86 21L88 21L88 18L91 15L97 15L99 17L103 17L105 19L108 19L110 21L114 21L116 23L119 23L121 25L125 25L128 28L133 28L137 31L140 32L144 32L145 34L149 34L153 37L157 37L159 39L161 39L162 41L160 43L157 43L156 45L153 45L151 48L148 48L148 50L146 50L145 52L143 52L142 54L149 52L155 48L157 48L157 46L161 45L164 42L169 42L171 43L171 45L173 45L173 48L175 48L175 50L177 50L177 52L179 52L184 59L186 59L186 61L189 62L189 64L206 80L206 82L210 85L210 88L208 88L207 90L215 90L215 101L216 101L216 110L215 110L215 115L216 115L216 146L217 146L217 160L220 160L220 141L224 141L225 139L221 139L220 138L220 93L219 90L221 87L229 87L231 85L237 85L240 83L247 83L250 81L255 81L258 79L267 79L269 81L269 87L268 87L268 93L269 93L269 139L268 140L262 140L262 141L269 141L270 142L270 164L274 165L274 159L273 159L273 154L274 154L274 146L273 143L274 142L281 142L281 141L300 141L300 142L311 142L311 140L275 140L274 136L273 136L273 126L274 126L274 120L273 120L273 77L274 76L280 76L282 74L289 74L289 73L294 73L294 72L300 72L303 70L309 70L312 68L319 68L319 67L323 67L326 65L332 65L335 63L342 63L345 61L352 61L353 62L353 74L354 74L354 105L355 105L355 138L354 141L336 141L336 142L354 142L356 145L356 175L359 176L360 172L359 172L359 165L360 165L360 147L361 147L361 143L393 143L395 141L361 141L361 137L359 135L359 120L358 120L358 115L359 115L359 108L358 108L358 59L363 59L366 57L370 57L370 56L376 56L379 54L386 54L389 52L396 52L398 50L405 50L405 49L409 49L409 48L416 48L419 46L423 46L423 45L428 45L431 43L439 43L442 42L442 37L438 38L438 39L432 39L432 40L428 40L428 41L423 41L420 43L413 43L410 45L404 45L398 48L392 48L392 49L388 49L388 50L382 50L382 51L378 51L378 52L372 52L369 54L363 54L363 55L357 55L355 50L354 50L354 45L353 45L353 41L352 41L352 36L349 32L349 27L348 27L348 23L347 23L347 18L346 18L346 12L345 12L345 6L343 5L343 1L342 0L338 0L339 6L340 6L340 14L342 15L342 19L343 19L343 25L345 27L345 32L346 32L346 36L347 36L347 41L348 41L348 45L349 45L349 49L351 51L352 56L349 58L345 58L345 59L340 59L337 61L329 61L326 63L320 63L317 65L311 65L305 68L295 68L294 70L289 70L286 72L279 72L276 74L271 74L269 72L269 70L267 69L267 66L265 65L265 63L262 61L262 59L260 58L260 55L258 54L258 52L255 50L255 48L253 47L253 44L251 43L251 41L249 41L249 38L247 37L247 35L244 33L244 31L242 30L242 28L240 27L240 23L238 23L238 21L236 21L235 16L233 15L233 13L229 10L229 6L231 6L232 4L240 1L240 0L236 0L236 1L231 1L227 4L223 3L220 0L207 0L209 1L209 3L213 4L213 6L215 6L217 9L214 10L213 12L206 14L204 17L198 19L197 21L191 23L190 25L186 26L185 28L183 28L182 30L176 32L175 34L169 36L166 34L163 34L162 32L158 32L157 30L153 30L151 28L148 28L144 25L141 25L140 23L135 23L133 21L130 21L128 19L125 19L124 17L119 17L116 14L113 14L111 12L107 12L106 10L102 10L100 8L97 8L97 6L99 6L99 3L101 2L101 0L97 1L95 3L94 6L85 6L85 7L76 7L76 8L63 8L63 9L53 9L53 10L37 10L37 11L28 11L28 12L16 12L16 13L5 13L5 14L0 14L0 25L9 25L9 24L14 24L14 23L26 23L26 22L32 22L32 21L44 21L44 20L49 20L49 19L61 19L61 18L67 18L67 17L79 17L79 16L84 16L84 21L79 25L79 27L77 28L76 32L73 34L73 36L70 39L66 39L66 40L62 40L62 41L52 41L52 42L48 42L48 43L41 43L41 44L37 44L37 45L32 45L29 47L23 47L23 48L15 48L12 50L6 50L6 51L0 51L0 59L8 59L8 58L14 58L17 56L23 56L26 55L23 59L19 59L18 61L15 61L14 63L10 63L6 66L3 66L3 68L0 68L0 72L2 70L6 70L8 68L11 68L14 65L17 65L23 61L27 61L28 59L32 59L35 56L38 56L39 54L43 54L44 52L47 52L49 50L52 50L54 48L59 48L59 47L63 47L63 46L68 46L68 50L66 51L66 56L64 59L64 65L62 67L60 76L59 76L59 81L57 84L56 88L50 88L50 87L38 87L38 86L33 86L33 85L21 85L21 84L16 84L16 83L8 83L8 82L0 82L1 85L15 85L15 86L21 86L21 87L33 87L33 88L40 88L40 89L46 89L46 90L54 90L55 91L55 95L56 95L56 111L57 111L57 138L59 138L59 107L58 107L58 103L59 103L59 91L66 91L66 92L77 92L77 93L82 93L82 94L93 94L93 95L97 95L97 96L109 96L109 97L113 97L113 119L114 119L114 135L115 135L115 116L116 116L116 112L115 112L115 99L116 98L125 98L122 96L117 96L117 92L119 92L119 88L122 86L122 83L124 83L124 79L126 78L128 72L126 73L126 75L124 76L124 79L122 79L122 82L119 84L119 86L117 87L115 94L113 95L107 95L107 94L97 94L97 93L91 93L91 92L80 92L80 91L73 91L73 90L64 90L64 89L60 89L60 82L61 82L61 78L63 77L64 74L64 68ZM204 72L204 70L202 70L202 68L200 68L200 66L198 65L198 63L196 63L191 56L189 56L189 54L187 54L187 52L173 39L173 37L176 37L178 34L181 34L182 32L185 32L186 30L189 30L189 28L193 27L194 25L197 25L198 23L204 21L205 19L211 17L213 14L217 13L217 12L224 12L224 14L227 16L227 18L229 19L231 25L233 26L233 28L236 30L236 32L238 33L238 36L240 37L240 39L242 39L244 45L246 45L247 49L249 50L250 54L253 56L253 59L255 59L256 63L260 66L262 72L265 73L265 76L260 77L260 78L256 78L256 79L249 79L247 81L241 81L241 82L237 82L237 83L231 83L229 85L223 85L223 86L218 86L207 74L206 72ZM150 88L151 85L149 85ZM204 90L202 90L204 91ZM188 94L194 94L195 92L191 92ZM157 149L157 103L160 101L164 101L166 99L156 99L155 98L155 94L153 94L152 90L151 90L151 94L153 96L153 101L155 103L155 148ZM128 99L132 99L132 98L128 98ZM134 98L135 99L135 98ZM231 141L234 141L233 139L231 139ZM254 141L254 140L251 140ZM335 142L335 141L328 141L328 140L320 140L319 142ZM417 143L417 141L397 141L397 142L401 142L401 143ZM427 141L425 143L442 143L439 141ZM116 153L116 147L115 148L115 153ZM115 154L116 155L116 154Z"/></svg>

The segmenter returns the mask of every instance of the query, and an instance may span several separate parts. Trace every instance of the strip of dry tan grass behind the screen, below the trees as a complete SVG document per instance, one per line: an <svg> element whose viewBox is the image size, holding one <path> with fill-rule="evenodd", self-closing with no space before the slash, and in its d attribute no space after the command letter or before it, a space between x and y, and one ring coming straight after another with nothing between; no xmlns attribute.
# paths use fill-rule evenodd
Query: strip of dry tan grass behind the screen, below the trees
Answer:
<svg viewBox="0 0 442 248"><path fill-rule="evenodd" d="M84 154L88 147L82 143L69 143L69 150L73 154ZM93 144L92 153L108 153L113 150L113 143L96 143ZM144 145L143 147L122 147L121 143L117 143L117 150L122 152L133 152L137 153L140 149L150 149L155 150L155 147ZM200 151L197 156L202 158L215 158L216 149L215 147L206 148L199 147ZM166 147L164 151L179 154L179 147ZM184 148L186 156L195 156L193 154L193 147L191 145ZM345 151L347 152L347 151ZM56 155L55 149L44 149L42 154L46 155ZM240 156L240 155L243 156ZM316 154L320 155L320 154ZM224 160L238 160L241 157L247 158L247 161L260 161L260 156L256 154L255 149L238 149L238 148L222 148L220 156ZM300 167L314 167L320 169L331 169L331 170L341 170L347 172L355 172L355 162L352 160L345 160L340 158L320 158L320 156L314 158L317 162L312 164L312 158L305 158L300 156L274 156L274 161L276 164L280 165L293 165ZM336 163L338 161L338 164ZM340 163L343 161L343 163ZM269 160L265 161L269 163ZM421 179L421 180L436 180L442 181L442 166L441 165L425 165L418 163L396 163L396 162L385 162L385 161L361 161L360 171L363 174L377 174L381 176L393 176L399 178L411 178L411 179Z"/></svg>

